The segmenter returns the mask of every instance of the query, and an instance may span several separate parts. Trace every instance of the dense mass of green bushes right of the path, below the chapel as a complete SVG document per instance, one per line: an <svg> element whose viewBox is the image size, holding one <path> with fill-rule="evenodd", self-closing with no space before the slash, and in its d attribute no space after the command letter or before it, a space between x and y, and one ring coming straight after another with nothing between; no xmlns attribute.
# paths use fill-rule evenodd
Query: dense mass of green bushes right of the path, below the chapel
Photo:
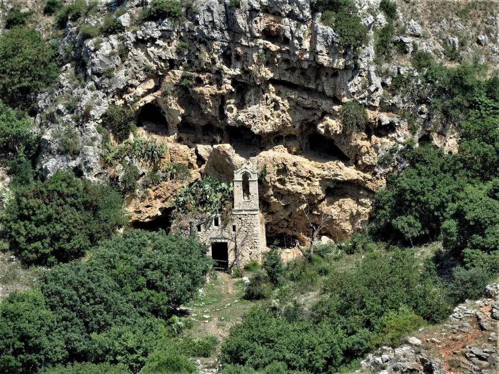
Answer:
<svg viewBox="0 0 499 374"><path fill-rule="evenodd" d="M431 262L422 267L412 251L399 249L371 249L363 257L348 270L327 254L288 264L285 278L292 284L281 283L272 300L231 329L222 344L222 362L263 372L274 361L283 365L282 372L337 372L373 347L396 345L410 331L440 321L452 310ZM270 285L265 273L255 276ZM326 285L306 311L297 304L296 290L316 290L317 283L307 288L305 278L318 277Z"/></svg>

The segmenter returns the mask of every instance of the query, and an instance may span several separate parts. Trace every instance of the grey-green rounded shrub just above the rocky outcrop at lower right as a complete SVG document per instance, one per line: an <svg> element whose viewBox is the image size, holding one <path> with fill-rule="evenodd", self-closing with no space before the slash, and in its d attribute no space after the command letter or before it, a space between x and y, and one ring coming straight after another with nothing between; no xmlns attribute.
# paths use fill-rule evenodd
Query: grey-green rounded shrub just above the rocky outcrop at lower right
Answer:
<svg viewBox="0 0 499 374"><path fill-rule="evenodd" d="M463 302L466 299L480 299L483 297L485 286L490 280L490 273L480 267L465 269L458 266L452 272L451 296L456 302Z"/></svg>

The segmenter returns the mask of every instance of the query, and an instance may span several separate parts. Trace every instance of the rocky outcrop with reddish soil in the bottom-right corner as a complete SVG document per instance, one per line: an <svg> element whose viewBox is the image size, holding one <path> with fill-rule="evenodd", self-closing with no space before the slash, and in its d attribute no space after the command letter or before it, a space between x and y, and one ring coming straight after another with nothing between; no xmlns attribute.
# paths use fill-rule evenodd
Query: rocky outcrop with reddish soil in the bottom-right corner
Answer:
<svg viewBox="0 0 499 374"><path fill-rule="evenodd" d="M457 306L447 323L420 329L397 348L369 354L356 372L493 374L499 368L499 284L487 286L487 299Z"/></svg>

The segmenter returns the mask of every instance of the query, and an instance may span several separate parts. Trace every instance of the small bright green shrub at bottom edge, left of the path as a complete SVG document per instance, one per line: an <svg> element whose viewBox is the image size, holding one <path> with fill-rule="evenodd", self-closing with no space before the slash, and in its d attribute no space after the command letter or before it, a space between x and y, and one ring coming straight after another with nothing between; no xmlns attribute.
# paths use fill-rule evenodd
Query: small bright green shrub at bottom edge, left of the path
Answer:
<svg viewBox="0 0 499 374"><path fill-rule="evenodd" d="M147 357L140 374L195 374L198 367L182 353L156 351Z"/></svg>

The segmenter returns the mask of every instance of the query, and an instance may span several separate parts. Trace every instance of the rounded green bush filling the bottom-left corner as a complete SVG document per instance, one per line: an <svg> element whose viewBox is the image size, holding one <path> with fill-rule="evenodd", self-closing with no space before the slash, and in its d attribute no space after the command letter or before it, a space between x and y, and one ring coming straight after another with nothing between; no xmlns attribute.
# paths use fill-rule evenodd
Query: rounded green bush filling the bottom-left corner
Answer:
<svg viewBox="0 0 499 374"><path fill-rule="evenodd" d="M39 291L13 292L0 303L0 372L31 374L64 361L62 334Z"/></svg>

